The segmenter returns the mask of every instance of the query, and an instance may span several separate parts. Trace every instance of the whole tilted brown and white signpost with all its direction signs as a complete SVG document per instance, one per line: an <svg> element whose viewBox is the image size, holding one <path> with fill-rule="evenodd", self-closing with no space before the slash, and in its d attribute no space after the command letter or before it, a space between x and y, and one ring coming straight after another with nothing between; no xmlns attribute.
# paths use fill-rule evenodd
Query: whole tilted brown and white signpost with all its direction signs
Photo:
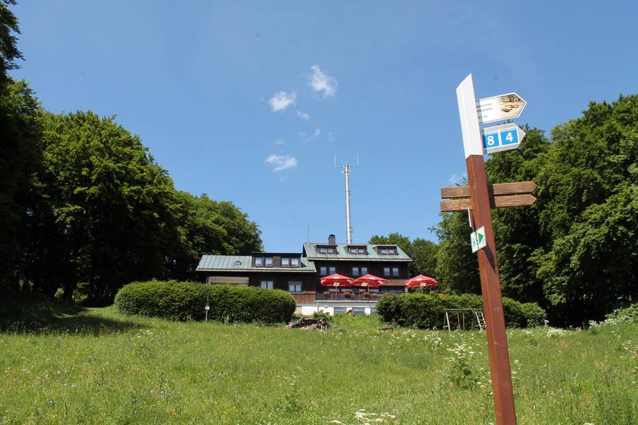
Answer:
<svg viewBox="0 0 638 425"><path fill-rule="evenodd" d="M457 101L461 118L461 132L465 149L465 162L469 186L441 188L441 211L468 210L474 229L481 230L481 245L478 251L478 270L481 275L481 293L485 313L490 372L494 393L494 410L497 425L515 425L514 393L512 373L508 354L508 339L505 334L505 316L503 300L500 294L498 263L496 262L496 244L492 226L492 208L532 205L536 198L530 193L535 190L533 181L490 185L487 181L483 162L483 133L479 123L517 118L525 107L525 101L517 94L505 94L491 98L474 98L474 84L471 74L457 87ZM480 117L479 117L480 113ZM525 137L518 136L517 128L500 128L499 131L517 132L517 142ZM509 134L509 133L508 133ZM499 135L499 140L504 139ZM505 136L507 137L507 136ZM518 143L510 146L503 144L499 150L514 149ZM471 212L469 210L471 208ZM476 232L475 232L476 234ZM474 242L473 242L474 243Z"/></svg>

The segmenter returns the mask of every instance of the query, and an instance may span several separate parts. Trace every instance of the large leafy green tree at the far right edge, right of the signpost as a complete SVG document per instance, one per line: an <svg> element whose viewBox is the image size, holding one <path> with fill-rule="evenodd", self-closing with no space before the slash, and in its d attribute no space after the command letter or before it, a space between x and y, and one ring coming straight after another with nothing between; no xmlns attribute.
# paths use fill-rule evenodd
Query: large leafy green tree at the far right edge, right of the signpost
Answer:
<svg viewBox="0 0 638 425"><path fill-rule="evenodd" d="M556 319L582 324L638 292L638 96L556 126L538 176L550 235L532 261Z"/></svg>

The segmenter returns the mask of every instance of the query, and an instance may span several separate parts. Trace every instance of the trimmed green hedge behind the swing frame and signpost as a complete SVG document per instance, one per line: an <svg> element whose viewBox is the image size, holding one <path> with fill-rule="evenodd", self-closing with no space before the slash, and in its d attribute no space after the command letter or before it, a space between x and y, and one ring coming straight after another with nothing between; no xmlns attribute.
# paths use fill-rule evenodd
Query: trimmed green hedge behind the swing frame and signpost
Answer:
<svg viewBox="0 0 638 425"><path fill-rule="evenodd" d="M480 295L426 295L419 293L384 295L376 310L384 322L421 329L442 328L444 312L452 308L483 309ZM534 302L521 304L503 297L505 324L508 327L528 327L543 324L544 310Z"/></svg>

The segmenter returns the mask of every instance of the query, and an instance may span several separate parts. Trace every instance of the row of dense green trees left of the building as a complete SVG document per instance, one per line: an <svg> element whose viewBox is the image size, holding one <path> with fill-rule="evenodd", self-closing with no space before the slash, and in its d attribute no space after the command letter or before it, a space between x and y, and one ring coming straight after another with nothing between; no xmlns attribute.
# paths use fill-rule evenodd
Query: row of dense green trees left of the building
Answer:
<svg viewBox="0 0 638 425"><path fill-rule="evenodd" d="M0 287L101 305L133 280L195 278L202 253L260 251L233 203L178 191L140 137L91 111L45 111L9 70L18 20L0 0Z"/></svg>

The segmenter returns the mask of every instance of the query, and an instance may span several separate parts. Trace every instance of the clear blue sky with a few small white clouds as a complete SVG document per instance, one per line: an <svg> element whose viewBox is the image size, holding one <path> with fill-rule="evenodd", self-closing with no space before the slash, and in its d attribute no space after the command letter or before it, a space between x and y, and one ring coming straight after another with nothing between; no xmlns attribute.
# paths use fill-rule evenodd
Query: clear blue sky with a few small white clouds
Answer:
<svg viewBox="0 0 638 425"><path fill-rule="evenodd" d="M230 200L267 251L436 241L466 174L455 89L515 91L547 132L638 93L635 1L18 0L26 79L55 113L116 115L176 188Z"/></svg>

